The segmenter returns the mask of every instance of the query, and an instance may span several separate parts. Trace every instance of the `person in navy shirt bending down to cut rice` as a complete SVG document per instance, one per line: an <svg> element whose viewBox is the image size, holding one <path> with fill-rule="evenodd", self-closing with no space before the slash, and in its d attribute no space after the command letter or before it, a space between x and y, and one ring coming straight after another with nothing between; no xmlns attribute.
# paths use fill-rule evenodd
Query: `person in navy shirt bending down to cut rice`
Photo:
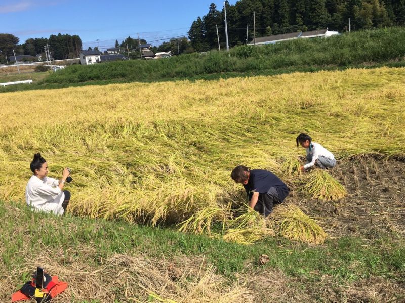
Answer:
<svg viewBox="0 0 405 303"><path fill-rule="evenodd" d="M272 172L252 169L244 165L236 166L231 178L241 183L248 195L249 207L266 218L273 211L273 204L282 203L288 196L288 187Z"/></svg>

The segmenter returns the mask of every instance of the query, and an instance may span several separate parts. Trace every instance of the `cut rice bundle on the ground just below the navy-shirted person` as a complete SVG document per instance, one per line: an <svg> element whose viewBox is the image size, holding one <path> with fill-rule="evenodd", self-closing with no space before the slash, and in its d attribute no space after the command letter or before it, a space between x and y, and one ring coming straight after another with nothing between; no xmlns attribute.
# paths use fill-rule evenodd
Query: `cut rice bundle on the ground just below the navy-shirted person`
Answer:
<svg viewBox="0 0 405 303"><path fill-rule="evenodd" d="M275 208L272 218L279 234L288 239L322 244L327 237L317 221L308 217L297 206L280 205Z"/></svg>

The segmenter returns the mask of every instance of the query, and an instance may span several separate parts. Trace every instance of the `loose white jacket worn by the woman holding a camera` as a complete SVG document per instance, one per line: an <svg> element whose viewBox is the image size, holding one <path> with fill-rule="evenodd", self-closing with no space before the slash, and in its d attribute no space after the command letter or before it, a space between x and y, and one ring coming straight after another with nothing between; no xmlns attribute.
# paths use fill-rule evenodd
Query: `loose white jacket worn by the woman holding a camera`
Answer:
<svg viewBox="0 0 405 303"><path fill-rule="evenodd" d="M25 188L27 204L34 209L63 214L62 203L65 194L58 186L59 181L50 177L39 179L32 175Z"/></svg>

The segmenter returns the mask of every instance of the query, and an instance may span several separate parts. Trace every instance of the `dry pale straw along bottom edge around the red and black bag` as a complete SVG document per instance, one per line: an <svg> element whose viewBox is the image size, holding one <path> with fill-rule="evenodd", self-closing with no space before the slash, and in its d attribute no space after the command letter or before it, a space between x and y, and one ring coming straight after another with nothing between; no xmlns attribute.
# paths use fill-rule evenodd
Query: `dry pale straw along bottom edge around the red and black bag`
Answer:
<svg viewBox="0 0 405 303"><path fill-rule="evenodd" d="M95 251L89 247L81 249L82 254ZM51 253L51 252L50 252ZM63 256L63 251L60 252ZM243 283L229 281L216 274L212 266L173 267L171 262L150 261L143 256L114 254L103 260L99 267L77 260L68 261L63 257L50 258L44 253L36 258L27 257L25 263L0 280L0 291L10 293L9 285L23 274L33 272L36 264L46 265L51 275L59 276L61 281L69 283L65 292L58 296L58 301L92 301L113 302L117 291L127 301L149 302L252 302L253 295ZM203 262L204 264L204 262ZM0 296L2 297L2 296Z"/></svg>

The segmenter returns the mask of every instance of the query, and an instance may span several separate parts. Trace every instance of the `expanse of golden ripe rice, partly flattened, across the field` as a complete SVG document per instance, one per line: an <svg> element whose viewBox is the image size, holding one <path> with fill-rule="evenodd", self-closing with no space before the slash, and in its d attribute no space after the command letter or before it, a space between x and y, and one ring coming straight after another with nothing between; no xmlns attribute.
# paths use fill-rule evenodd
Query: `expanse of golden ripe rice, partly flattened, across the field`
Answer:
<svg viewBox="0 0 405 303"><path fill-rule="evenodd" d="M232 231L224 209L244 199L229 178L238 164L319 199L344 195L327 172L297 171L302 131L340 158L405 157L404 81L405 69L381 68L5 93L0 199L24 200L29 162L41 152L52 177L72 168L76 215Z"/></svg>

